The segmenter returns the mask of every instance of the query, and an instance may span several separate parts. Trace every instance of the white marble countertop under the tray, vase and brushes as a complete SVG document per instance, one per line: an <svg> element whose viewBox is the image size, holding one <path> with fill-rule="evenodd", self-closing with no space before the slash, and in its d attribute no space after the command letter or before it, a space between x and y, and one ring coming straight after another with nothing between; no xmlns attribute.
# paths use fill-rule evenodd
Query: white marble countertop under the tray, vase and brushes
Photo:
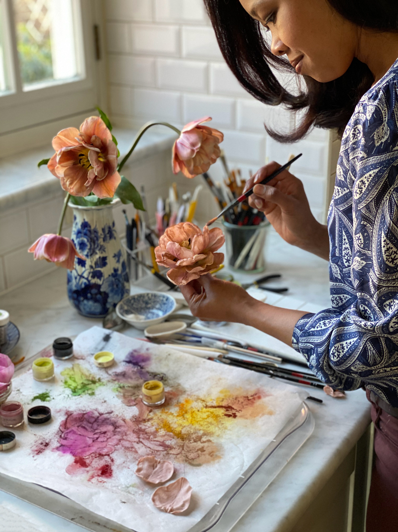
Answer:
<svg viewBox="0 0 398 532"><path fill-rule="evenodd" d="M283 274L279 286L289 286L289 295L330 306L325 261L288 246L274 232L269 236L266 256L267 272ZM77 335L101 323L83 318L72 309L66 297L65 270L56 270L8 293L1 306L10 312L21 331L20 343L12 353L14 360L37 353L58 336ZM142 335L133 328L123 332ZM363 390L348 393L342 400L316 388L311 388L310 393L323 399L323 404L308 402L315 418L313 435L233 527L233 532L290 531L368 427L370 407ZM0 491L0 509L2 505L15 509L46 532L83 530ZM1 523L0 532L5 532Z"/></svg>

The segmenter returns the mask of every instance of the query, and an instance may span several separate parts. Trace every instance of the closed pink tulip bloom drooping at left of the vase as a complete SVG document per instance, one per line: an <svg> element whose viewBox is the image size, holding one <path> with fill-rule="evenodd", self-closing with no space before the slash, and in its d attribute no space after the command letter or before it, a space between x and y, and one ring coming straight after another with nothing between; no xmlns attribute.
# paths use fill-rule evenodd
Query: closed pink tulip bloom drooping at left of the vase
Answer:
<svg viewBox="0 0 398 532"><path fill-rule="evenodd" d="M45 259L68 270L73 270L75 257L85 260L85 257L77 253L70 238L59 235L42 235L28 251L34 253L35 261Z"/></svg>

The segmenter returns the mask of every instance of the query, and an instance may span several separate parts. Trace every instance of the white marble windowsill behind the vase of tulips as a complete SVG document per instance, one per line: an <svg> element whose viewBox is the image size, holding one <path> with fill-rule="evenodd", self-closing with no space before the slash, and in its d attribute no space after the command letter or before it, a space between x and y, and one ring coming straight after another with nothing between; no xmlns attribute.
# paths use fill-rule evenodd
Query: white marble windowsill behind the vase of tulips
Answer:
<svg viewBox="0 0 398 532"><path fill-rule="evenodd" d="M121 158L131 147L136 131L114 128ZM126 165L170 149L176 134L166 128L155 126L145 132ZM58 192L59 180L46 167L37 168L37 163L54 154L50 143L18 155L0 159L0 212L22 206L24 203Z"/></svg>

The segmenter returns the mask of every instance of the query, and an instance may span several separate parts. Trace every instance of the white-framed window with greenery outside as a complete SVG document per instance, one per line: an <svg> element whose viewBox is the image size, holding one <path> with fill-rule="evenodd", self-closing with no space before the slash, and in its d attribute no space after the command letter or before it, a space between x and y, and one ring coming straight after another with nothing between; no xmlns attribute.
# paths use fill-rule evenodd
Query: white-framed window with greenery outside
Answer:
<svg viewBox="0 0 398 532"><path fill-rule="evenodd" d="M96 0L0 0L0 157L103 105L100 27Z"/></svg>

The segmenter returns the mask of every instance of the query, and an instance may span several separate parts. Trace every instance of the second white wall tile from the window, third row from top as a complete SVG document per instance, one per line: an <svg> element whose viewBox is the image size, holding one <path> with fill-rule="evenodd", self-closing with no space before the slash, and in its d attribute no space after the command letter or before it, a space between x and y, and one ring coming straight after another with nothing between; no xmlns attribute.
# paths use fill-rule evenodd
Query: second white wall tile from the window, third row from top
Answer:
<svg viewBox="0 0 398 532"><path fill-rule="evenodd" d="M207 63L158 59L158 87L161 89L195 90L206 92Z"/></svg>

